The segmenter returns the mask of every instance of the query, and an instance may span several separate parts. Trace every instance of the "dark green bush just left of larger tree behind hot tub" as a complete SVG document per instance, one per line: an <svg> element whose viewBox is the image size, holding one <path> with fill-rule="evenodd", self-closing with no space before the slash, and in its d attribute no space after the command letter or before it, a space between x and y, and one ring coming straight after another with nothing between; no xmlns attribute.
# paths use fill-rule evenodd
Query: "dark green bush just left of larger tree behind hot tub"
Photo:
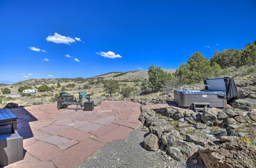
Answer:
<svg viewBox="0 0 256 168"><path fill-rule="evenodd" d="M170 80L173 75L164 72L161 67L150 66L148 69L148 87L152 92L162 91L164 81Z"/></svg>

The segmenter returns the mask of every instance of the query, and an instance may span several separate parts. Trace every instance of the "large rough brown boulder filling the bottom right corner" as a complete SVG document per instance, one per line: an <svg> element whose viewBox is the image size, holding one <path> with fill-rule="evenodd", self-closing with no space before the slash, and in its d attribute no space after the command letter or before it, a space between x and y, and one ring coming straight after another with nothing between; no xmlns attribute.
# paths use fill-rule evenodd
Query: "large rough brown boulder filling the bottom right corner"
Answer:
<svg viewBox="0 0 256 168"><path fill-rule="evenodd" d="M255 167L256 135L250 134L230 143L198 151L206 167Z"/></svg>

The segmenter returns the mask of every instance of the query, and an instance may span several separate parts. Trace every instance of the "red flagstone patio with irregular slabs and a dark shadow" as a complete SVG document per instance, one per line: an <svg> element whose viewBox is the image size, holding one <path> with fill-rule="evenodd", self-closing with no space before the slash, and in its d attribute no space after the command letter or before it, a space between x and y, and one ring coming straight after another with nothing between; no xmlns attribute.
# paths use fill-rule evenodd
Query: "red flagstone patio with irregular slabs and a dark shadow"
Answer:
<svg viewBox="0 0 256 168"><path fill-rule="evenodd" d="M23 160L5 167L74 167L138 128L140 106L103 101L93 111L57 110L56 103L12 108L26 153Z"/></svg>

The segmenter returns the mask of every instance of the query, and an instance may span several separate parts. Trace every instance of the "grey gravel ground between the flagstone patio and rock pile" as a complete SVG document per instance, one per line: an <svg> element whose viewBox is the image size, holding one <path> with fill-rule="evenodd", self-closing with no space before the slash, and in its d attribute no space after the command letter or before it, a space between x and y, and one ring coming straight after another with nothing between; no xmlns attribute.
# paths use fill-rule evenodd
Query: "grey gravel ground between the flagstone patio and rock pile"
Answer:
<svg viewBox="0 0 256 168"><path fill-rule="evenodd" d="M76 167L196 167L173 160L160 150L147 151L140 126L127 139L110 142Z"/></svg>

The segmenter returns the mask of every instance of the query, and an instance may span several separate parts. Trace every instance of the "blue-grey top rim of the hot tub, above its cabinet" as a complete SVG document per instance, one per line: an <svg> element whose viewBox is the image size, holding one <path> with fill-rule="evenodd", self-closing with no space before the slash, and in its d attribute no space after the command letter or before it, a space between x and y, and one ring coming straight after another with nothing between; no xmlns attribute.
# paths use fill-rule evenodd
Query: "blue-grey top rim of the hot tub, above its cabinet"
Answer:
<svg viewBox="0 0 256 168"><path fill-rule="evenodd" d="M195 90L195 89L183 89L176 90L183 95L226 95L223 91L209 91L209 90Z"/></svg>

